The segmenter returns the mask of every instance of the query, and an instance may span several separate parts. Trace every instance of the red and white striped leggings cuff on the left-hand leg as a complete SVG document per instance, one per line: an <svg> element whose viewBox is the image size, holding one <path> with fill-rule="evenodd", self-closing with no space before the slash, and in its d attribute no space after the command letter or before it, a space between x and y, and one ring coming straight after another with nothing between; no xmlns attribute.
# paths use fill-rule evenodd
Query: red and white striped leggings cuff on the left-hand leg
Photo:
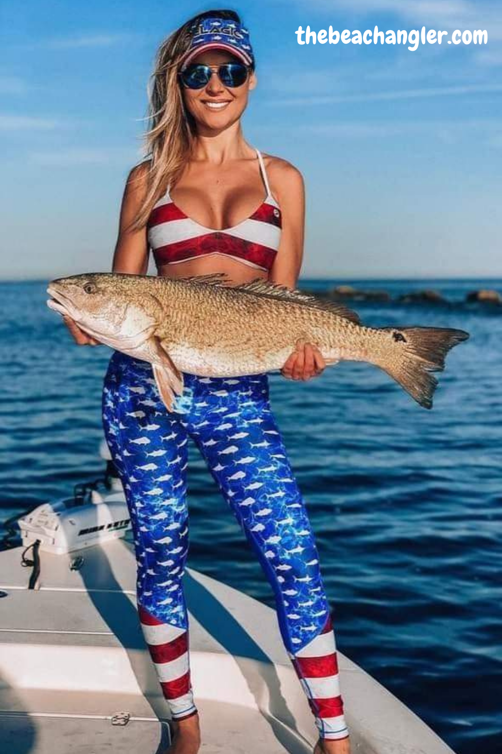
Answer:
<svg viewBox="0 0 502 754"><path fill-rule="evenodd" d="M194 715L197 710L190 682L188 631L163 623L142 605L138 605L138 615L172 719Z"/></svg>

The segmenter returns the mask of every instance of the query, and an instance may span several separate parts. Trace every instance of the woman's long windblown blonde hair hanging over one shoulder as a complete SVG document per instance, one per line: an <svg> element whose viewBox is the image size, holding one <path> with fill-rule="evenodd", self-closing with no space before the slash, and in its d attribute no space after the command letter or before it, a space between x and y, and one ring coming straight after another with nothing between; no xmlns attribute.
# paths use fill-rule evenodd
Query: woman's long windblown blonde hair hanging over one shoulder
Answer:
<svg viewBox="0 0 502 754"><path fill-rule="evenodd" d="M146 191L141 207L131 223L133 229L146 225L157 199L168 185L176 182L190 159L196 136L196 122L184 106L178 84L178 66L190 47L193 27L206 17L220 17L241 23L236 11L204 11L172 32L157 50L154 71L150 77L153 85L148 87L149 127L142 137L145 158L150 164L145 174L138 175L138 179L145 179L146 176Z"/></svg>

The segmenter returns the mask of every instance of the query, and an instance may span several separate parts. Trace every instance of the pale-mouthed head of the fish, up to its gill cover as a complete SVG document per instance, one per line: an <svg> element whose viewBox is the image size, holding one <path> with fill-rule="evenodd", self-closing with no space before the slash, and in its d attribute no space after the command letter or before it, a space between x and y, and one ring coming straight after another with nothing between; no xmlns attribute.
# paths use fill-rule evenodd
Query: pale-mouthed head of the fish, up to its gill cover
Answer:
<svg viewBox="0 0 502 754"><path fill-rule="evenodd" d="M100 342L127 351L151 336L162 314L145 281L144 275L117 273L59 277L47 287L47 306Z"/></svg>

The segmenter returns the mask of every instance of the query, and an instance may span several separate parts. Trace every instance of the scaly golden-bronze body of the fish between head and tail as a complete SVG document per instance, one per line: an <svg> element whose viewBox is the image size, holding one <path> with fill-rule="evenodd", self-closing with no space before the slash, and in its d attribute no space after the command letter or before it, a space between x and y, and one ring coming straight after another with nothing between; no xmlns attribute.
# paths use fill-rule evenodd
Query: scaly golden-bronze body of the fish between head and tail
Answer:
<svg viewBox="0 0 502 754"><path fill-rule="evenodd" d="M158 287L167 316L157 336L186 372L234 377L280 369L300 339L317 345L326 360L364 354L368 328L328 308L242 295L230 286L166 282Z"/></svg>

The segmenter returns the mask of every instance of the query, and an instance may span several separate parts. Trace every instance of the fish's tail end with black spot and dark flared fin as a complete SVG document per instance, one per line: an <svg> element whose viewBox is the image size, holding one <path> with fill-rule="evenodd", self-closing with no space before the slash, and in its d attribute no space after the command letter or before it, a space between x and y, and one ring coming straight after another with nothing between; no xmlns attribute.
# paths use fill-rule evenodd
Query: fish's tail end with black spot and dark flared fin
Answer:
<svg viewBox="0 0 502 754"><path fill-rule="evenodd" d="M431 372L440 372L445 368L445 357L450 348L467 340L469 333L452 327L379 329L389 333L391 352L380 345L373 363L384 369L420 406L431 409L437 388L437 379Z"/></svg>

